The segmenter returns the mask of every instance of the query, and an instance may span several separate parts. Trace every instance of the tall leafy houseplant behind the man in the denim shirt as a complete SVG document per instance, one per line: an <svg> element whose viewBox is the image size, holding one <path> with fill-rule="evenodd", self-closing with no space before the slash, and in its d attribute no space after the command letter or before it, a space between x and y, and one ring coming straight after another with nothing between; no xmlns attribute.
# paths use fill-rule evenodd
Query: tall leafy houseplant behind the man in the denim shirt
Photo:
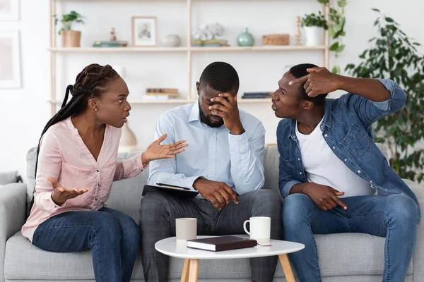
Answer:
<svg viewBox="0 0 424 282"><path fill-rule="evenodd" d="M379 10L373 9L377 12ZM358 66L346 71L358 78L389 78L407 94L403 109L375 124L375 141L385 142L391 153L390 165L402 178L424 178L424 150L416 145L424 140L424 56L399 24L380 13L375 21L379 35L374 44L360 55Z"/></svg>

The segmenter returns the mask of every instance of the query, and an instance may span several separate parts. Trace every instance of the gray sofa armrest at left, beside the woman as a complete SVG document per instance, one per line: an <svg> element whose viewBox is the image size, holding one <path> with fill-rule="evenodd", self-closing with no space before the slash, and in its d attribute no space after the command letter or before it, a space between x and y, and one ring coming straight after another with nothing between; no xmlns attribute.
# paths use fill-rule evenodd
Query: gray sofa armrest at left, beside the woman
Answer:
<svg viewBox="0 0 424 282"><path fill-rule="evenodd" d="M6 241L25 223L26 184L0 187L0 281L4 281Z"/></svg>

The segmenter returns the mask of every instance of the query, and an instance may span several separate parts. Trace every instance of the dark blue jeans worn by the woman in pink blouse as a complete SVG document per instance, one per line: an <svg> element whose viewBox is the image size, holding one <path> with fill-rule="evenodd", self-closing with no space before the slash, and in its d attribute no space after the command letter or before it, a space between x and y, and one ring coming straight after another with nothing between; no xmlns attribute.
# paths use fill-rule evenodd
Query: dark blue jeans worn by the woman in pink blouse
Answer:
<svg viewBox="0 0 424 282"><path fill-rule="evenodd" d="M37 227L33 237L34 245L49 252L91 250L98 282L130 281L139 243L134 219L105 207L53 216Z"/></svg>

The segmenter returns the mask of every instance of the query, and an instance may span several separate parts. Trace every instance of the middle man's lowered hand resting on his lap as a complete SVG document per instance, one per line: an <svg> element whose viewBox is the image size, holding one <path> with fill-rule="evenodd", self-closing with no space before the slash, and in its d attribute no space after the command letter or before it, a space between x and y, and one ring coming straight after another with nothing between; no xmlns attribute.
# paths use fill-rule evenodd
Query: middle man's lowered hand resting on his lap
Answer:
<svg viewBox="0 0 424 282"><path fill-rule="evenodd" d="M231 201L238 204L237 194L226 183L198 178L193 187L218 210L228 206Z"/></svg>

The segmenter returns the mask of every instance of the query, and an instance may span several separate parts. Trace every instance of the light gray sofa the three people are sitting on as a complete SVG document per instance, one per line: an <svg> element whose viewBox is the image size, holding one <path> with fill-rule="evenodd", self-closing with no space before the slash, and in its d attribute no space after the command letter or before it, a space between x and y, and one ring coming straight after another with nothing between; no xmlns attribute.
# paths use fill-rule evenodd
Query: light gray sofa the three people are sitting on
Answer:
<svg viewBox="0 0 424 282"><path fill-rule="evenodd" d="M383 148L384 149L384 148ZM134 154L119 154L121 158ZM35 150L28 152L28 176L34 174ZM265 188L278 192L278 151L265 151ZM139 221L139 204L148 171L136 178L114 183L107 207L119 209ZM424 207L424 188L405 180ZM45 252L31 245L20 233L25 222L25 207L32 195L33 178L28 185L0 187L0 282L1 281L94 281L89 251L74 253ZM424 227L420 224L418 243L406 281L424 281ZM323 281L382 281L384 238L359 233L316 235L319 266ZM179 281L182 260L171 259L170 280ZM247 259L201 261L199 281L249 281ZM274 281L285 281L278 265ZM143 280L140 259L133 273L134 281Z"/></svg>

